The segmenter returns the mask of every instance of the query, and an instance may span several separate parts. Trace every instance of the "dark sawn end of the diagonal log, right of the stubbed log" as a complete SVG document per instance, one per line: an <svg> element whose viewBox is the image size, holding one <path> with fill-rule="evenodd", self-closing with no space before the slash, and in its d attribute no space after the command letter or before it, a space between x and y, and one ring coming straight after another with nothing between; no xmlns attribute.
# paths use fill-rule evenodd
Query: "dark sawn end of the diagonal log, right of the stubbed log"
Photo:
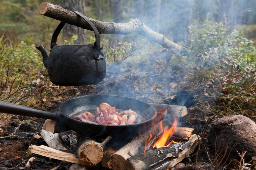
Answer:
<svg viewBox="0 0 256 170"><path fill-rule="evenodd" d="M110 169L124 169L124 163L125 163L125 159L122 155L118 155L118 154L114 154L111 156L109 162L108 162L108 167Z"/></svg>

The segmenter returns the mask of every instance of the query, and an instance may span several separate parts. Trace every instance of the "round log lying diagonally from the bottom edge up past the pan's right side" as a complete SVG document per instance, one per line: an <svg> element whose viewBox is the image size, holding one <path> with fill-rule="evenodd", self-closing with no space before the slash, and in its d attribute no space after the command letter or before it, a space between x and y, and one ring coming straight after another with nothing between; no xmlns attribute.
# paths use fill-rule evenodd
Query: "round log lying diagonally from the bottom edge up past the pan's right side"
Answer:
<svg viewBox="0 0 256 170"><path fill-rule="evenodd" d="M167 120L163 120L162 124L163 124L163 127L170 126L170 123ZM163 132L163 129L160 127L160 123L158 123L156 125L156 128L152 127L146 132L144 132L143 134L138 135L131 142L127 143L125 146L123 146L121 149L119 149L110 157L110 160L107 163L108 167L114 170L124 169L125 161L128 158L130 158L131 156L137 155L144 150L145 141L148 140L150 135L151 135L151 140L147 143L146 146L150 146L153 143L153 141L156 139L156 137L160 135L162 132Z"/></svg>

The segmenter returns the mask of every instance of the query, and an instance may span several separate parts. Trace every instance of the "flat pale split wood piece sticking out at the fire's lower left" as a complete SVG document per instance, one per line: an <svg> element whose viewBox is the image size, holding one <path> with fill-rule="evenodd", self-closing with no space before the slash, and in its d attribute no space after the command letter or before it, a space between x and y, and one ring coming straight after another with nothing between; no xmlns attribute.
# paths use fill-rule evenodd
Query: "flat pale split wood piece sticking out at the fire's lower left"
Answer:
<svg viewBox="0 0 256 170"><path fill-rule="evenodd" d="M41 146L30 145L28 149L31 153L35 153L41 156L46 156L46 157L61 160L61 161L83 165L83 162L80 159L78 159L75 154L72 154L69 152L60 151L44 145L41 145Z"/></svg>

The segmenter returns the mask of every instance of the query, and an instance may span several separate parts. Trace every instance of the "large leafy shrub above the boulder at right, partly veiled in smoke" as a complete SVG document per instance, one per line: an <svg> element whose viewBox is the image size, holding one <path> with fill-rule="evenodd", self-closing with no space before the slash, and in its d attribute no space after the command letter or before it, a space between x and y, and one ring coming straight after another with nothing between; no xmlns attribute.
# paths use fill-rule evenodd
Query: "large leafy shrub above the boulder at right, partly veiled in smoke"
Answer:
<svg viewBox="0 0 256 170"><path fill-rule="evenodd" d="M201 102L223 114L243 114L256 120L255 47L241 31L228 33L223 23L206 21L190 27L190 40L172 57L183 81Z"/></svg>

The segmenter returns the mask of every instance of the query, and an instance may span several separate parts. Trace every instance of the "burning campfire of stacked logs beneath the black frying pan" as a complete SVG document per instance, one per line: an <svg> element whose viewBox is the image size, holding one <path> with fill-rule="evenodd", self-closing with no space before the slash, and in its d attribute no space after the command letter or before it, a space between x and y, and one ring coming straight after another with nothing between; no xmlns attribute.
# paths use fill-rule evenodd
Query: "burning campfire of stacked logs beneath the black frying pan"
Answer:
<svg viewBox="0 0 256 170"><path fill-rule="evenodd" d="M87 166L105 169L169 169L184 158L189 158L200 140L192 135L194 129L178 127L178 120L187 114L186 107L151 103L157 110L151 128L138 133L130 141L112 142L109 136L105 140L83 139L77 134L77 150L69 150L61 138L60 123L47 120L41 136L47 146L29 147L35 154L70 162L67 169L87 169ZM54 141L54 142L53 142ZM70 140L71 142L71 140ZM121 144L120 144L121 143Z"/></svg>

